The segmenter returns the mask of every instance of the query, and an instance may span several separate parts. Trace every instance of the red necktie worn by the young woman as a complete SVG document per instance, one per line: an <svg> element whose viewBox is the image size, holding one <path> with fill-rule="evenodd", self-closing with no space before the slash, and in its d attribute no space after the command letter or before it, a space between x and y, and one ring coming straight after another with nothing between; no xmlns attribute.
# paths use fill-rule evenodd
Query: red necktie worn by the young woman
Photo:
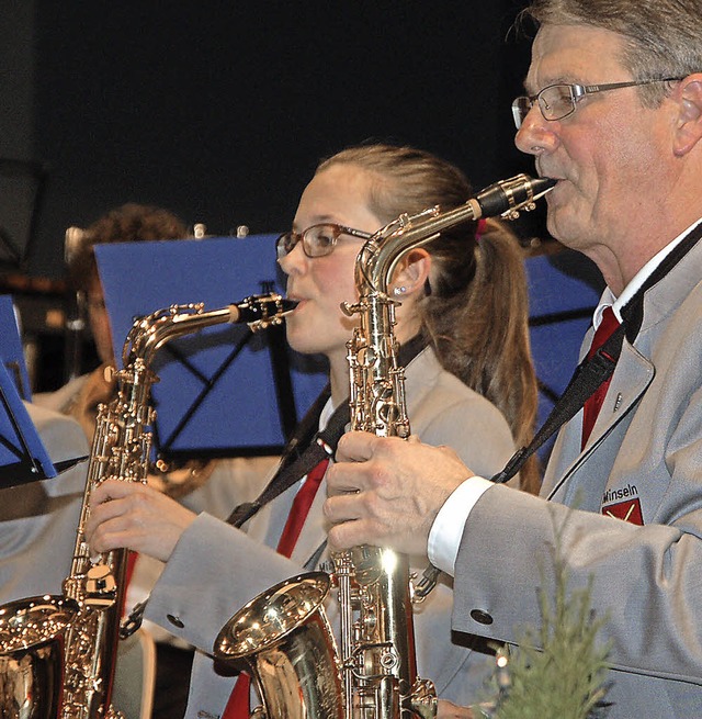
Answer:
<svg viewBox="0 0 702 719"><path fill-rule="evenodd" d="M290 557L293 553L328 464L329 458L327 457L309 471L304 484L297 491L283 533L278 542L279 554ZM250 684L251 679L248 674L239 674L222 719L249 719L251 712L249 706Z"/></svg>

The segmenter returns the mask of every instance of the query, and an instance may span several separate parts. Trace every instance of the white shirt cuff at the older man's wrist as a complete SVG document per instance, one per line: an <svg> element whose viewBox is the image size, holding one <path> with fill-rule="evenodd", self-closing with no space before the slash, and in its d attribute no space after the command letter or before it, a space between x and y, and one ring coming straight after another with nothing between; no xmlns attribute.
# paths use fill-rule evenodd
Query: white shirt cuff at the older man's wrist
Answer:
<svg viewBox="0 0 702 719"><path fill-rule="evenodd" d="M489 480L472 476L445 501L431 526L427 544L429 561L437 569L453 576L465 523L476 502L491 486L495 484Z"/></svg>

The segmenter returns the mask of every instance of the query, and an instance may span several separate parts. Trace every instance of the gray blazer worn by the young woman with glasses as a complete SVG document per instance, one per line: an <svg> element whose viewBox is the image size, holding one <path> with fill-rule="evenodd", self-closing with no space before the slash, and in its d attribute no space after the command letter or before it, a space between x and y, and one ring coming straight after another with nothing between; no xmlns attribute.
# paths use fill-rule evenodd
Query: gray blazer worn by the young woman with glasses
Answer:
<svg viewBox="0 0 702 719"><path fill-rule="evenodd" d="M451 445L472 467L490 474L512 452L512 440L502 415L455 377L441 369L431 350L424 350L406 370L408 414L412 430L430 443ZM216 483L216 481L215 481ZM324 482L322 482L324 484ZM233 488L233 504L253 498L262 484ZM146 617L204 652L212 651L225 622L246 602L271 585L315 569L327 560L319 548L326 538L320 487L292 558L274 548L295 490L291 488L263 508L247 532L202 514L183 533L166 564L149 600ZM226 513L231 508L227 507ZM426 560L418 559L423 568ZM480 686L489 661L451 641L452 593L441 583L416 616L418 670L437 683L439 694L467 703ZM335 602L329 602L332 627ZM218 717L231 692L233 681L218 676L204 653L195 656L186 717Z"/></svg>

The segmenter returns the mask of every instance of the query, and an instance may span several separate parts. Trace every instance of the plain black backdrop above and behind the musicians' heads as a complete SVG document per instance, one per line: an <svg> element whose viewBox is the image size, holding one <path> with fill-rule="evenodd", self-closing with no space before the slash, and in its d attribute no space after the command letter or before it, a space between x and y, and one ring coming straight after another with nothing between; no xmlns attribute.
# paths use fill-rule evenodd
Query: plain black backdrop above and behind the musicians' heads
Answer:
<svg viewBox="0 0 702 719"><path fill-rule="evenodd" d="M65 228L126 201L215 235L284 228L317 160L369 138L433 150L476 188L532 171L509 108L521 4L36 0L31 272L61 274Z"/></svg>

